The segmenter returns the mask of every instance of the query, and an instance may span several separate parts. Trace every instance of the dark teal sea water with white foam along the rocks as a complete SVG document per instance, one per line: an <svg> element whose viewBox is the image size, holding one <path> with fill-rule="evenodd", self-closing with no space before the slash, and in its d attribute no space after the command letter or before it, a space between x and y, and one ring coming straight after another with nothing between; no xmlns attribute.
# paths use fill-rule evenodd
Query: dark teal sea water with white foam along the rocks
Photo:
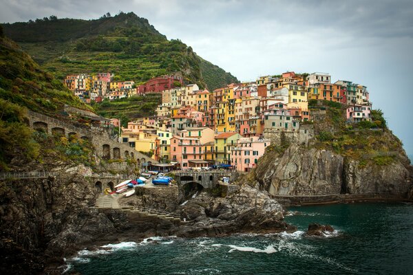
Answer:
<svg viewBox="0 0 413 275"><path fill-rule="evenodd" d="M413 204L358 203L289 208L292 234L155 238L82 251L81 274L412 274ZM337 231L306 237L308 223Z"/></svg>

